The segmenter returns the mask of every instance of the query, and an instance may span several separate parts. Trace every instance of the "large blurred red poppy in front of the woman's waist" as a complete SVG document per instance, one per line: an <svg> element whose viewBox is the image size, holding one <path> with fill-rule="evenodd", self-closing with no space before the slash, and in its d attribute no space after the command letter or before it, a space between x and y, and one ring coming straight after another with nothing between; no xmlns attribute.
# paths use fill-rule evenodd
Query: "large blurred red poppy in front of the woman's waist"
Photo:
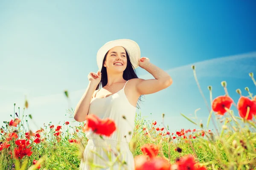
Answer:
<svg viewBox="0 0 256 170"><path fill-rule="evenodd" d="M116 124L110 118L100 119L98 116L90 114L87 116L85 131L90 129L96 134L111 136L116 130Z"/></svg>

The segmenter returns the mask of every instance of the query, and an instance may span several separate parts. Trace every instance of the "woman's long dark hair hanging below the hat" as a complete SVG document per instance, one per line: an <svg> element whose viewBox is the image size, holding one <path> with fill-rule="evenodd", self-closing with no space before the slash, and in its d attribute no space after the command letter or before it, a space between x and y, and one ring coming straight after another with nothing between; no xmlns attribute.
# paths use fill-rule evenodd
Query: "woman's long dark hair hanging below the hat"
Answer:
<svg viewBox="0 0 256 170"><path fill-rule="evenodd" d="M109 51L108 51L109 52ZM99 85L97 85L97 88L96 90L98 90L100 88L100 86L102 86L102 88L108 84L108 74L107 74L107 68L105 68L103 65L104 65L104 62L106 60L106 57L108 55L108 52L105 54L105 57L102 61L102 69L101 69L101 73L102 73L102 77L101 77L101 80L99 82ZM127 66L123 72L123 79L125 79L126 81L128 81L129 79L134 79L134 78L139 78L136 74L136 71L134 70L134 66L132 65L131 63L131 60L130 60L130 57L129 55L127 54L127 51L125 50L125 53L126 53L126 58L127 58ZM143 96L143 95L141 95ZM139 97L139 101L141 102L141 96ZM137 102L137 108L140 108L138 102Z"/></svg>

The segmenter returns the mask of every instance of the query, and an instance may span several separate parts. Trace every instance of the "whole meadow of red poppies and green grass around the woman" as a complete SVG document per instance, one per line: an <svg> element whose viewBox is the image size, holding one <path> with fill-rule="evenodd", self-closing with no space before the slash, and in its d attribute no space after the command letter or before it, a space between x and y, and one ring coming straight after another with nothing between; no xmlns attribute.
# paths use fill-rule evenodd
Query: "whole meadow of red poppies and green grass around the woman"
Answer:
<svg viewBox="0 0 256 170"><path fill-rule="evenodd" d="M192 70L198 83L195 66ZM256 86L253 73L249 76ZM151 123L137 114L130 142L136 170L255 170L256 96L249 88L245 88L247 96L242 96L241 90L237 89L240 98L235 102L228 95L227 83L221 82L221 85L225 94L215 99L212 99L211 86L208 87L211 105L207 122L197 124L181 114L188 122L198 125L196 129L172 132L164 124L164 114L163 122L153 120ZM199 83L198 88L201 92ZM67 91L65 94L68 97ZM236 110L230 110L231 106ZM87 145L84 132L93 130L101 137L111 136L116 130L111 119L102 120L90 115L87 122L79 126L70 126L70 122L49 123L32 132L28 124L32 115L25 115L26 108L27 101L23 113L18 108L18 112L4 121L6 126L0 128L0 170L79 170ZM73 109L69 111L73 113ZM214 130L208 128L210 121ZM116 161L121 169L125 169L124 161ZM111 169L113 162L105 162ZM91 166L97 169L95 165Z"/></svg>

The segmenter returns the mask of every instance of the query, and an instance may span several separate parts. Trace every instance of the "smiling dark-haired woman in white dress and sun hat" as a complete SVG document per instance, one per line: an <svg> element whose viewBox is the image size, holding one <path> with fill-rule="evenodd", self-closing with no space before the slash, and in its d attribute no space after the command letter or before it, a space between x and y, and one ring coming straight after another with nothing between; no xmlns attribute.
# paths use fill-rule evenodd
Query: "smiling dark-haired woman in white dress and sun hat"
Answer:
<svg viewBox="0 0 256 170"><path fill-rule="evenodd" d="M99 49L96 60L99 71L88 75L89 85L76 106L74 119L84 122L88 114L101 119L111 118L117 130L109 137L102 136L103 139L92 131L86 133L89 140L80 169L89 170L92 163L100 165L101 170L108 170L110 154L111 161L116 160L114 170L120 166L121 169L134 170L134 158L128 144L134 131L137 102L144 94L153 94L169 87L172 78L151 64L148 58L140 58L139 45L128 39L107 42ZM134 69L139 66L155 79L138 78Z"/></svg>

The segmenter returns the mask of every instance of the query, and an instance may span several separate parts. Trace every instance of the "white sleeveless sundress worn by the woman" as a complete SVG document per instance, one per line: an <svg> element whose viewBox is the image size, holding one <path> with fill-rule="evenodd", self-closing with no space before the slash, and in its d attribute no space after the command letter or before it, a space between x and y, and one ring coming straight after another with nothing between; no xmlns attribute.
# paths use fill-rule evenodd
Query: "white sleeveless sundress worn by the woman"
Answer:
<svg viewBox="0 0 256 170"><path fill-rule="evenodd" d="M91 130L86 132L89 140L83 153L80 170L111 170L108 165L111 162L115 162L112 170L134 170L134 157L129 149L129 142L134 132L136 107L128 102L124 91L125 85L111 96L105 98L93 96L88 114L95 114L101 119L113 119L116 123L116 131L110 137L102 136L103 139ZM90 168L90 163L100 166Z"/></svg>

